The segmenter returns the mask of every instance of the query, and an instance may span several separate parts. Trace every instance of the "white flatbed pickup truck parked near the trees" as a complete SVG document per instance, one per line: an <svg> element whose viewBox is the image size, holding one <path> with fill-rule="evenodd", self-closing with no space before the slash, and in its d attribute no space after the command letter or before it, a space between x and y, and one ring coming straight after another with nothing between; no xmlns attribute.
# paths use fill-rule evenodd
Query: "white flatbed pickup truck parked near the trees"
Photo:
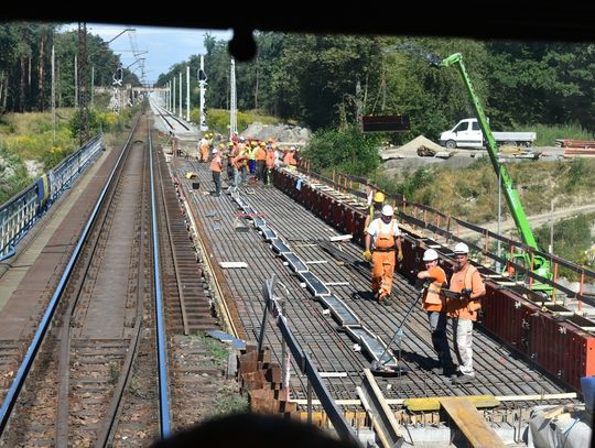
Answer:
<svg viewBox="0 0 595 448"><path fill-rule="evenodd" d="M491 132L499 145L532 146L537 140L534 132ZM483 147L484 135L476 118L461 120L453 129L440 134L440 144L450 150L455 147Z"/></svg>

